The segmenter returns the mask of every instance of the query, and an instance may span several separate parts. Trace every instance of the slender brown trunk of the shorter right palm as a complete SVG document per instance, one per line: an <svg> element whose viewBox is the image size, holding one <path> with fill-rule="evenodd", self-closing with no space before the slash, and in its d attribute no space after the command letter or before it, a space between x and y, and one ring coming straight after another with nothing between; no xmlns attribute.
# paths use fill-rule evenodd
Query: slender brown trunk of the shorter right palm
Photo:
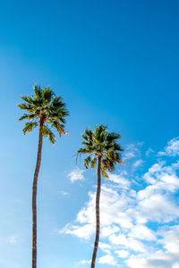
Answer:
<svg viewBox="0 0 179 268"><path fill-rule="evenodd" d="M96 238L93 248L93 255L90 264L90 268L95 268L95 262L97 257L98 250L98 240L99 240L99 229L100 229L100 220L99 220L99 199L100 199L100 188L101 188L101 156L98 156L98 185L97 185L97 195L96 195Z"/></svg>

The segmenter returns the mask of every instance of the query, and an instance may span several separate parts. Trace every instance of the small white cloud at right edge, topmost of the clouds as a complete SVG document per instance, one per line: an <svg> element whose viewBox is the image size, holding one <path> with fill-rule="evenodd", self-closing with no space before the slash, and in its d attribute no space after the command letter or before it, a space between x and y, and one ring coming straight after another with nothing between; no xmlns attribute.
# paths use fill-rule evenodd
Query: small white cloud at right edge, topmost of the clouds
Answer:
<svg viewBox="0 0 179 268"><path fill-rule="evenodd" d="M179 137L172 138L168 141L164 152L159 152L158 155L176 156L179 155Z"/></svg>

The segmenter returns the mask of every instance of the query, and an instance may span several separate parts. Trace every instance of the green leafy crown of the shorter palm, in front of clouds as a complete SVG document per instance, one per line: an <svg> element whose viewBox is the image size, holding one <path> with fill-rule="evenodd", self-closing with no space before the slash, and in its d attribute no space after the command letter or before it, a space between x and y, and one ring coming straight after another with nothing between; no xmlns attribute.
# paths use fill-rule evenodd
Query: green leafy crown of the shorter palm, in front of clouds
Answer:
<svg viewBox="0 0 179 268"><path fill-rule="evenodd" d="M98 157L101 158L101 173L103 177L108 177L107 172L113 172L115 170L116 163L122 163L121 153L122 147L116 142L121 138L120 134L115 132L108 132L107 126L101 124L96 126L95 130L86 129L84 134L81 134L84 138L82 145L83 148L78 150L78 155L88 154L89 156L84 160L84 165L89 169L96 166ZM93 156L92 156L93 155Z"/></svg>

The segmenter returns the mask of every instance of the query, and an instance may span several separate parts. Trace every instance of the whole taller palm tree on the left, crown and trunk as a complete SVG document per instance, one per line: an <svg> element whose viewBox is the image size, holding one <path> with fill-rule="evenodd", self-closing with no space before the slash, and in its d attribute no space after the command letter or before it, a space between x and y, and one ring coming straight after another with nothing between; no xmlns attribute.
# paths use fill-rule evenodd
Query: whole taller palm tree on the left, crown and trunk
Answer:
<svg viewBox="0 0 179 268"><path fill-rule="evenodd" d="M22 110L26 110L21 120L28 120L25 123L23 134L31 132L38 127L38 157L36 162L36 169L33 177L32 188L32 268L37 267L37 186L38 186L38 172L41 163L41 152L43 137L49 138L52 144L55 144L55 134L50 127L57 130L60 134L68 134L64 130L65 116L69 113L65 108L63 98L55 96L50 88L40 88L34 86L34 94L30 96L21 96L25 103L18 105Z"/></svg>

